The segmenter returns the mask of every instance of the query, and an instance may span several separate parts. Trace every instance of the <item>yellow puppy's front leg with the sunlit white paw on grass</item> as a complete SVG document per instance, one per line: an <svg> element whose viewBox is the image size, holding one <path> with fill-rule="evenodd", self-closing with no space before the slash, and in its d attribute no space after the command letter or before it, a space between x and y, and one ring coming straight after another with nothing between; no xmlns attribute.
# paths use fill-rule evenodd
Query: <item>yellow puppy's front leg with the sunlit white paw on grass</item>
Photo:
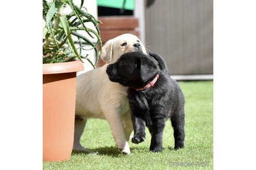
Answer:
<svg viewBox="0 0 256 170"><path fill-rule="evenodd" d="M118 146L118 149L122 153L131 153L129 144L125 138L123 123L121 120L121 114L118 108L106 107L104 111L105 118L107 119L110 129L112 131L114 140Z"/></svg>

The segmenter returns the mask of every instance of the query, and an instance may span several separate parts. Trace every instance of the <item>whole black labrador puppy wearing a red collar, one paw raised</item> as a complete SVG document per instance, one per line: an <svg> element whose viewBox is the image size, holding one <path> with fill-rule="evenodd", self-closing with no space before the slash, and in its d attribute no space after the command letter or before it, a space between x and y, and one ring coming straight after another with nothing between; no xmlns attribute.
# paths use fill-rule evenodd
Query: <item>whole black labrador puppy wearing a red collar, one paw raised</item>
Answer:
<svg viewBox="0 0 256 170"><path fill-rule="evenodd" d="M162 151L165 122L170 118L175 149L184 146L184 96L169 70L155 53L128 52L106 70L110 81L129 87L134 136L132 143L145 140L145 125L151 133L150 151Z"/></svg>

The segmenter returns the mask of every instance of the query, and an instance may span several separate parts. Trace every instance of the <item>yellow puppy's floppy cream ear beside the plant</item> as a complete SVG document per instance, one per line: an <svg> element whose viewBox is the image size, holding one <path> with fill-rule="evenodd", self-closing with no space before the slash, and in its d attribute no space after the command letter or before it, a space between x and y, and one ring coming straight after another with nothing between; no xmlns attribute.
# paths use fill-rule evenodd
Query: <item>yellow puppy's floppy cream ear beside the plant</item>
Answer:
<svg viewBox="0 0 256 170"><path fill-rule="evenodd" d="M101 50L100 58L109 64L111 62L112 55L113 55L113 40L110 39L103 46Z"/></svg>

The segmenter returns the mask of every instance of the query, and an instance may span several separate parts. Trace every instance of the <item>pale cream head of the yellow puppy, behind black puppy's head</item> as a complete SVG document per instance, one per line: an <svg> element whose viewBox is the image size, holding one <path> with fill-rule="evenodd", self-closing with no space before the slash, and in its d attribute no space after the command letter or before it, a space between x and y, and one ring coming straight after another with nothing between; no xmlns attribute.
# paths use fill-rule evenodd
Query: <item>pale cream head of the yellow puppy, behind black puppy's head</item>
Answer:
<svg viewBox="0 0 256 170"><path fill-rule="evenodd" d="M101 50L100 58L106 63L114 63L126 52L140 51L146 54L145 46L140 39L132 34L122 34L110 39Z"/></svg>

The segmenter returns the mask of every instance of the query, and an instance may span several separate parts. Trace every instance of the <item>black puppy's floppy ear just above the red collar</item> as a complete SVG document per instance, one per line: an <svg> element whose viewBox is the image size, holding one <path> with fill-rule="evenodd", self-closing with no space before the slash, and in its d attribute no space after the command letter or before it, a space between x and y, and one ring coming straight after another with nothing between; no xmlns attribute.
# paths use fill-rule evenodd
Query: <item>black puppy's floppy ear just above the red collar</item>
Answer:
<svg viewBox="0 0 256 170"><path fill-rule="evenodd" d="M149 58L140 59L140 77L146 82L158 72L157 65Z"/></svg>

